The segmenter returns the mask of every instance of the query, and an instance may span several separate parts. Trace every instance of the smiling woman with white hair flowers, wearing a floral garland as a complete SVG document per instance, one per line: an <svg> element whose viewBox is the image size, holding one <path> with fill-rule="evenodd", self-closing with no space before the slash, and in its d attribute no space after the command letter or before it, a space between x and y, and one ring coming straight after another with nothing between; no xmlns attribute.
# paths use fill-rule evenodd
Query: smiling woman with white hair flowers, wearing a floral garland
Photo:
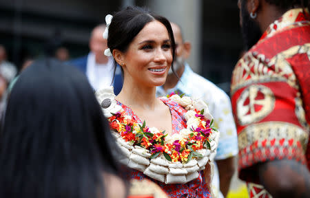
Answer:
<svg viewBox="0 0 310 198"><path fill-rule="evenodd" d="M114 135L122 145L121 149L129 157L123 162L135 169L132 173L133 178L143 179L147 177L146 175L152 177L153 181L161 186L170 197L210 197L209 183L205 181L205 176L209 178L210 172L205 171L204 175L203 171L196 171L204 169L204 166L198 167L197 164L190 166L191 163L185 165L185 162L190 160L187 156L190 153L188 148L191 146L185 145L187 147L183 149L181 146L187 144L188 141L185 142L181 138L173 139L173 137L180 136L181 130L185 129L186 132L189 125L185 120L187 108L181 107L171 98L156 98L156 86L165 83L174 59L176 46L169 21L152 12L132 7L116 12L113 17L107 16L106 19L108 34L105 32L103 36L107 36L109 48L105 50L105 54L112 55L116 63L121 65L124 84L115 100L111 95L111 90L99 91L96 94L105 110L105 115L109 118L112 129L118 132ZM172 98L180 100L178 96ZM188 97L185 99L190 100ZM203 111L197 112L198 117L204 118ZM151 126L152 128L149 128ZM158 134L162 135L156 140L154 137ZM173 144L165 144L165 141L169 142L168 137L172 137ZM197 136L200 140L201 137ZM156 141L159 141L159 144L154 144ZM169 151L166 153L164 146L173 146L173 153ZM192 145L191 149L194 146L196 144ZM200 146L203 148L202 144ZM188 153L180 155L180 153L184 154L185 150ZM199 153L197 156L200 156ZM167 163L164 162L165 159ZM192 162L197 161L193 158ZM207 162L201 164L203 163ZM185 166L188 167L184 168ZM187 174L192 171L189 170L189 166L197 169L191 172L192 174ZM156 172L157 170L159 171ZM172 170L178 173L172 173Z"/></svg>

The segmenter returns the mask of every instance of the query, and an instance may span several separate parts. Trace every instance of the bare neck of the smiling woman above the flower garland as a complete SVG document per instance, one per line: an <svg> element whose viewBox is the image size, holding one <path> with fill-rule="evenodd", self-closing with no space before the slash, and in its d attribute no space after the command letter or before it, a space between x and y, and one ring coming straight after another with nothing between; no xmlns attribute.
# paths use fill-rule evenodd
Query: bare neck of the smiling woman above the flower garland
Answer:
<svg viewBox="0 0 310 198"><path fill-rule="evenodd" d="M156 106L156 87L147 87L142 83L124 79L123 88L116 100L132 109L154 110Z"/></svg>

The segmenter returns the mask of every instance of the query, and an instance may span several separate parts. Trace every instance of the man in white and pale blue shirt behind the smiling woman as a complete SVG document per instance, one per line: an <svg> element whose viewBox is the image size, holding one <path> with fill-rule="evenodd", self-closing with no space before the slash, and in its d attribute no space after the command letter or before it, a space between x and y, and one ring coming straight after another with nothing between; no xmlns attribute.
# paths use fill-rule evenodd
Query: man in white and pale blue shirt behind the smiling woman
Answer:
<svg viewBox="0 0 310 198"><path fill-rule="evenodd" d="M179 25L175 23L171 25L176 41L174 69L180 78L170 69L165 85L157 87L156 95L166 96L176 91L178 94L185 94L192 98L201 98L208 104L215 126L220 131L212 187L216 197L226 197L235 171L234 156L238 153L236 126L231 113L230 99L214 83L192 71L186 63L191 53L191 43L183 39Z"/></svg>

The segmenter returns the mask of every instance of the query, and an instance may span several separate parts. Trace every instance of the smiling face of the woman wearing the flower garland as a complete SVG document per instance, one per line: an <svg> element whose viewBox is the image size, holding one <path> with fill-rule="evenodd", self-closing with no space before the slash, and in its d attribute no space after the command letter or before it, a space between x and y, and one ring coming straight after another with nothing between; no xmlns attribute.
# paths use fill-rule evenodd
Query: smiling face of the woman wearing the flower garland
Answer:
<svg viewBox="0 0 310 198"><path fill-rule="evenodd" d="M172 64L172 49L167 28L152 21L136 35L123 54L124 77L147 87L165 83Z"/></svg>

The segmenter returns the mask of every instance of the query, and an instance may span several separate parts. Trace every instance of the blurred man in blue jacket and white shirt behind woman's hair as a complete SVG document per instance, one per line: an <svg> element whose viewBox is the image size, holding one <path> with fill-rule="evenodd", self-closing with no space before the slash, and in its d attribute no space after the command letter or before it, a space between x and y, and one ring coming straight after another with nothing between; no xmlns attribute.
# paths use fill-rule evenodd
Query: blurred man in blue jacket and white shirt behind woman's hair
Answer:
<svg viewBox="0 0 310 198"><path fill-rule="evenodd" d="M123 87L123 78L121 68L113 67L113 58L103 54L107 49L107 39L103 39L105 28L105 25L96 26L90 36L90 53L69 63L87 76L94 90L113 85L114 93L117 95Z"/></svg>

